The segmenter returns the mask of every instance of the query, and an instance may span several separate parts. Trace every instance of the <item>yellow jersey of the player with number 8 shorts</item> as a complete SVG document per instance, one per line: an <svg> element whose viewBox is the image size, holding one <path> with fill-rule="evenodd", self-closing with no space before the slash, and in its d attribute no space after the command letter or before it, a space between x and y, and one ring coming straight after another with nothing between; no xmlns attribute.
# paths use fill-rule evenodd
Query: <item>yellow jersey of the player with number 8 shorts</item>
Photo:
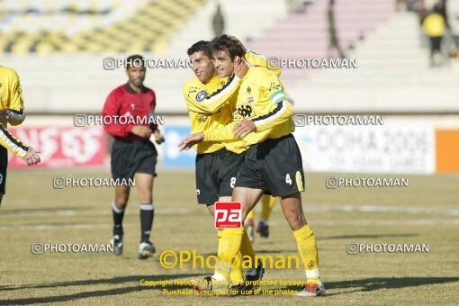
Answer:
<svg viewBox="0 0 459 306"><path fill-rule="evenodd" d="M245 59L256 67L267 67L266 58L257 53L247 51ZM272 67L276 75L280 69ZM192 121L191 133L203 130L217 130L232 121L233 108L236 105L236 96L241 80L238 76L223 77L214 76L203 84L197 77L184 84L183 94L186 107ZM211 153L220 148L240 153L247 149L247 143L240 141L204 141L196 146L198 153Z"/></svg>

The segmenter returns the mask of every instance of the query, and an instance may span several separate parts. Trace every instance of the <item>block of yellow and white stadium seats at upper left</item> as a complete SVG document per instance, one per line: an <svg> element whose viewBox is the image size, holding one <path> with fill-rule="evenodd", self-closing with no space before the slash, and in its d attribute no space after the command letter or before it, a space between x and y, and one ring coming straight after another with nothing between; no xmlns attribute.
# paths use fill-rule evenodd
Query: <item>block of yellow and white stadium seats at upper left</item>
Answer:
<svg viewBox="0 0 459 306"><path fill-rule="evenodd" d="M204 2L3 1L0 47L15 54L160 51Z"/></svg>

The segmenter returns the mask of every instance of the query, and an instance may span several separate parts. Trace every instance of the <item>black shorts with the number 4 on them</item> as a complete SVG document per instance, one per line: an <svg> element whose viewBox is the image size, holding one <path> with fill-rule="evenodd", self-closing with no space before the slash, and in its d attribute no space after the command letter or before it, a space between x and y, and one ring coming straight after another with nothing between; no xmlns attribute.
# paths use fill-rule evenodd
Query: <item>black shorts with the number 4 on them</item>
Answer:
<svg viewBox="0 0 459 306"><path fill-rule="evenodd" d="M248 148L236 187L262 189L273 196L304 191L302 154L293 135L266 139Z"/></svg>

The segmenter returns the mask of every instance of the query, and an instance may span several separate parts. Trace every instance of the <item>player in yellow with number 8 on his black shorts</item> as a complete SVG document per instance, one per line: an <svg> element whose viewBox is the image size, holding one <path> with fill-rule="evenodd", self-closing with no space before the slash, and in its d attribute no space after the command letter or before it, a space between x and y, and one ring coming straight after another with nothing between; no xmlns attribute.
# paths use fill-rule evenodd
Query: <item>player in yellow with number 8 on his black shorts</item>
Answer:
<svg viewBox="0 0 459 306"><path fill-rule="evenodd" d="M247 64L241 58L245 58L252 65L264 67L267 66L266 58L250 51L241 53L235 58L235 75L221 78L211 61L210 41L201 40L194 43L187 50L187 54L196 76L184 84L183 90L192 121L192 133L222 127L232 121L231 104L235 101L229 101L229 92L238 88L238 76L247 72ZM275 69L275 72L280 73L280 70ZM198 202L205 204L212 216L215 213L215 202L231 201L238 168L242 165L246 149L245 141L206 141L196 146L195 175ZM220 238L221 231L218 233ZM248 237L243 239L243 254L246 254L246 244L250 244ZM229 278L231 284L240 284L243 281L240 267L233 269Z"/></svg>

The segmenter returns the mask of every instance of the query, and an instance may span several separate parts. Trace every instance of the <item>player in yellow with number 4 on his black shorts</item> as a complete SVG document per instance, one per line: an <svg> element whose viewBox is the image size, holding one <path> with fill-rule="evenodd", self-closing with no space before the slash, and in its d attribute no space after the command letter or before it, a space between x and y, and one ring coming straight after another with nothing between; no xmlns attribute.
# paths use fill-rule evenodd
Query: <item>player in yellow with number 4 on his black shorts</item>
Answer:
<svg viewBox="0 0 459 306"><path fill-rule="evenodd" d="M211 41L214 66L219 76L230 76L234 70L233 54L238 52L234 40L222 35ZM242 220L247 217L263 193L280 197L286 220L293 229L306 274L301 296L323 296L316 238L302 211L304 191L302 156L293 138L293 108L284 94L284 86L274 73L264 67L250 67L243 76L233 111L234 122L218 130L205 130L185 138L181 148L190 148L202 140L245 139L247 149L232 193L232 201L242 203ZM213 282L228 280L234 256L238 254L245 229L223 229L218 256L221 264L211 276ZM246 258L245 258L246 259ZM252 259L252 258L250 258ZM259 280L264 268L257 263ZM252 289L253 285L243 289ZM212 289L212 288L211 288Z"/></svg>

